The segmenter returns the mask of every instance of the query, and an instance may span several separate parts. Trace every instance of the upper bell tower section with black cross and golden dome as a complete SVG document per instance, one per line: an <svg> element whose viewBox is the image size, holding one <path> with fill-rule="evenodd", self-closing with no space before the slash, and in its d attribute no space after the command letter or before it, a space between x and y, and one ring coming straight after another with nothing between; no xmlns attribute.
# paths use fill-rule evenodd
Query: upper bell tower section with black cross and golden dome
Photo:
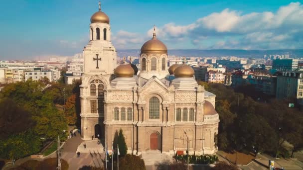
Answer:
<svg viewBox="0 0 303 170"><path fill-rule="evenodd" d="M90 41L84 47L84 75L112 75L117 67L116 49L111 42L110 18L99 10L91 16Z"/></svg>

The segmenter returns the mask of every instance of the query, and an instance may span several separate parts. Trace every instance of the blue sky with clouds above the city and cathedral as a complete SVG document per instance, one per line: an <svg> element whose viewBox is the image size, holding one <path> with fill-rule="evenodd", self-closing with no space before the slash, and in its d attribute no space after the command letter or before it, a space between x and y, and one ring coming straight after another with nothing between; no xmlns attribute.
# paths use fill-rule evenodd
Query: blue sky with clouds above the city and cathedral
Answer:
<svg viewBox="0 0 303 170"><path fill-rule="evenodd" d="M299 49L303 5L289 0L101 0L117 49ZM0 0L0 59L73 55L98 0Z"/></svg>

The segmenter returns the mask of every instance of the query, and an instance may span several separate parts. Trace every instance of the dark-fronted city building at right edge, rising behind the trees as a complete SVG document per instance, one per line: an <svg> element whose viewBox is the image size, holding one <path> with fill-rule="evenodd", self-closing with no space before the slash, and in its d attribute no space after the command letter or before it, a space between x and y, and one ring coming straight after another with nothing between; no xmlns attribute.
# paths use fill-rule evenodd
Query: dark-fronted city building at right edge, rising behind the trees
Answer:
<svg viewBox="0 0 303 170"><path fill-rule="evenodd" d="M303 72L278 72L276 98L303 98Z"/></svg>

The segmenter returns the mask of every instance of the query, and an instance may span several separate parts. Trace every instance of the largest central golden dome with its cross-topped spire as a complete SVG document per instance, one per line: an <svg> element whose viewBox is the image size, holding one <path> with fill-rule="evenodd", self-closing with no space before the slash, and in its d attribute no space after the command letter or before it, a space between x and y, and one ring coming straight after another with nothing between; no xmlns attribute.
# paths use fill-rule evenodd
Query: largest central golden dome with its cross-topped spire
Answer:
<svg viewBox="0 0 303 170"><path fill-rule="evenodd" d="M166 45L155 37L154 26L152 39L143 44L141 47L141 53L167 53Z"/></svg>

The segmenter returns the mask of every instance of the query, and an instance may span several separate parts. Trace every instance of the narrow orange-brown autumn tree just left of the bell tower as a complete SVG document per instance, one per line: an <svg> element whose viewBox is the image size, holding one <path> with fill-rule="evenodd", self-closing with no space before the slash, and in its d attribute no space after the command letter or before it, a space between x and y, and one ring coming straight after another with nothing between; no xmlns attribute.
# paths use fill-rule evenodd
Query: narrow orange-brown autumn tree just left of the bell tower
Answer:
<svg viewBox="0 0 303 170"><path fill-rule="evenodd" d="M65 103L65 111L64 115L69 125L75 125L77 121L77 114L76 114L76 95L73 94L67 98Z"/></svg>

